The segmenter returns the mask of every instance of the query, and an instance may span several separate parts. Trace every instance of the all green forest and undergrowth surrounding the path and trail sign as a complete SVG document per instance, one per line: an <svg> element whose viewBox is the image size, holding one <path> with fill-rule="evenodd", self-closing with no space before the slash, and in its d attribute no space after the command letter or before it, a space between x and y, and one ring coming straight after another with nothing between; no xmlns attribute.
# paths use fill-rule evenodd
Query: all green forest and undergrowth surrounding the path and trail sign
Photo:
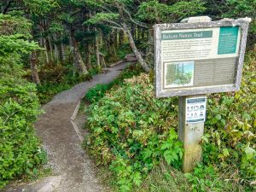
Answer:
<svg viewBox="0 0 256 192"><path fill-rule="evenodd" d="M102 191L256 189L255 10L255 0L1 0L0 189L53 172L35 123L54 96L94 77L79 113ZM183 174L177 97L154 96L153 26L201 15L252 22L241 90L207 96L203 160ZM127 55L137 63L104 79Z"/></svg>

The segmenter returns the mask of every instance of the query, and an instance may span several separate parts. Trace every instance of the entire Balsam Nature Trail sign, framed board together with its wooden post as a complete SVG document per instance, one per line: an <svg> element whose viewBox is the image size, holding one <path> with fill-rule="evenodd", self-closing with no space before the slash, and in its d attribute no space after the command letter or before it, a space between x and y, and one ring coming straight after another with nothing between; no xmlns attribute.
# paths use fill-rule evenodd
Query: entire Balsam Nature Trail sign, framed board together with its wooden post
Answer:
<svg viewBox="0 0 256 192"><path fill-rule="evenodd" d="M203 16L154 26L155 92L157 97L179 96L183 172L201 161L206 94L240 89L250 21Z"/></svg>

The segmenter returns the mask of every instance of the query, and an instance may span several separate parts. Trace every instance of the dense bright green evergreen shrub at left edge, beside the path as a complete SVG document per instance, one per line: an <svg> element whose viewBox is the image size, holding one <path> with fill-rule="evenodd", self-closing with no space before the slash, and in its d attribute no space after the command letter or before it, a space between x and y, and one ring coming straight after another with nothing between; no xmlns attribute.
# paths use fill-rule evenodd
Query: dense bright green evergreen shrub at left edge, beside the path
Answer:
<svg viewBox="0 0 256 192"><path fill-rule="evenodd" d="M11 63L13 57L9 59ZM18 65L12 63L14 68L11 68L1 61L0 189L21 174L36 174L38 166L46 161L46 154L33 129L33 123L40 113L36 86L21 79L19 73L22 73L22 69Z"/></svg>

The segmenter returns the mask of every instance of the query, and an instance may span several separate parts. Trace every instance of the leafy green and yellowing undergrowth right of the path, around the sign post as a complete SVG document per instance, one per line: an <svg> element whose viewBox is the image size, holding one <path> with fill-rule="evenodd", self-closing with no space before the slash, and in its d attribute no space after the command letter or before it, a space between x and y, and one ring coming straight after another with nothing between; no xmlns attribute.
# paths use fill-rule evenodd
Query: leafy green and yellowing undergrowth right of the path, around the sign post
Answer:
<svg viewBox="0 0 256 192"><path fill-rule="evenodd" d="M255 63L255 52L249 52L240 91L208 96L203 161L192 173L179 172L177 97L156 99L144 73L90 105L84 148L108 166L119 191L253 191Z"/></svg>

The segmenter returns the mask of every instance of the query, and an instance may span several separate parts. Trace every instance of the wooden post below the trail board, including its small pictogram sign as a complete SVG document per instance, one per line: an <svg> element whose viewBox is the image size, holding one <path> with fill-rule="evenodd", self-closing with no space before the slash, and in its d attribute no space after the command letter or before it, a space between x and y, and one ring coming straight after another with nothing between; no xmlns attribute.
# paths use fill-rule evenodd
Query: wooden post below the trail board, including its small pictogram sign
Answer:
<svg viewBox="0 0 256 192"><path fill-rule="evenodd" d="M192 172L201 161L201 137L204 133L207 97L178 97L178 139L183 142L183 172Z"/></svg>

